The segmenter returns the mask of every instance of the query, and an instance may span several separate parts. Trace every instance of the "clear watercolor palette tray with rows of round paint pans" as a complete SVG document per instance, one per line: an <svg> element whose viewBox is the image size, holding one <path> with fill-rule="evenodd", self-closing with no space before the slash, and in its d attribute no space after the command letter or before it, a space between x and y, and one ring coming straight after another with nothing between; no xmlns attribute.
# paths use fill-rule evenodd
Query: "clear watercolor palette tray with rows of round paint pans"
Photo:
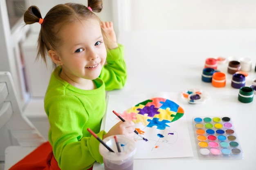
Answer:
<svg viewBox="0 0 256 170"><path fill-rule="evenodd" d="M243 159L231 117L193 117L200 159Z"/></svg>

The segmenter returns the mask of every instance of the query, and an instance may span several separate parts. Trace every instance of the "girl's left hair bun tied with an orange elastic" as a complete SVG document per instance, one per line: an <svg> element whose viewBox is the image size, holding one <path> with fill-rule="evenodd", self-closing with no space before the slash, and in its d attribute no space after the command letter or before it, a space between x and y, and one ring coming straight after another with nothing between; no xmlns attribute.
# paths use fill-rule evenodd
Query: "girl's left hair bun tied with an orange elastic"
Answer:
<svg viewBox="0 0 256 170"><path fill-rule="evenodd" d="M39 22L40 19L42 19L42 15L36 6L29 7L24 13L25 24L34 24L35 22Z"/></svg>

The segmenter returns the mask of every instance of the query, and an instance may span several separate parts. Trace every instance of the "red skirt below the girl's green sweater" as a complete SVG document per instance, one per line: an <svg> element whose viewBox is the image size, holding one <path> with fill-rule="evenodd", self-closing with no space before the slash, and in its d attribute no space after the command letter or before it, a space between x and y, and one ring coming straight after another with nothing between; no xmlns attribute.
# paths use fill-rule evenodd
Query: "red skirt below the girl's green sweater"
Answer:
<svg viewBox="0 0 256 170"><path fill-rule="evenodd" d="M54 158L49 141L41 144L33 152L13 165L9 170L61 170ZM92 167L88 170L92 170Z"/></svg>

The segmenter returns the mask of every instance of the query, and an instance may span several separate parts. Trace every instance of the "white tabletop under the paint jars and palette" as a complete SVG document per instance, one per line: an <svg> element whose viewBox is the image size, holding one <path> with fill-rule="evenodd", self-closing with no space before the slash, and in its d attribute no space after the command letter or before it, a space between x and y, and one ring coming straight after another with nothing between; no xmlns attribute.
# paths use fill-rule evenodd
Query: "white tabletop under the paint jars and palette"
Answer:
<svg viewBox="0 0 256 170"><path fill-rule="evenodd" d="M135 159L134 170L188 170L198 167L207 170L256 170L256 96L248 104L238 101L239 89L231 87L232 75L227 73L227 63L218 65L218 70L227 77L225 87L216 88L201 80L208 57L248 57L252 59L252 71L246 77L246 86L251 85L252 79L256 77L256 30L124 31L119 34L119 43L125 46L128 79L122 90L110 91L108 94L180 93L188 88L201 88L210 95L203 104L178 101L185 110L193 157ZM158 81L154 81L156 79ZM244 159L199 159L192 117L220 115L232 118ZM103 165L94 164L94 170L103 169Z"/></svg>

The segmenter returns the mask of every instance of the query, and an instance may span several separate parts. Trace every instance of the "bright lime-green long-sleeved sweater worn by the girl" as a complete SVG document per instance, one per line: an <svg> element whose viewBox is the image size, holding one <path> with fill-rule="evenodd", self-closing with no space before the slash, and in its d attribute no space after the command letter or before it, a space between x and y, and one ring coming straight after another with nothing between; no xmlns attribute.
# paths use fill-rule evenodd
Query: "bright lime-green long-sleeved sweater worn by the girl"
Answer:
<svg viewBox="0 0 256 170"><path fill-rule="evenodd" d="M122 88L126 82L124 46L108 51L107 64L94 80L97 88L81 90L59 77L61 68L52 73L45 94L45 112L49 118L49 142L61 170L87 170L95 161L103 163L99 141L87 130L92 129L101 139L105 113L106 90Z"/></svg>

